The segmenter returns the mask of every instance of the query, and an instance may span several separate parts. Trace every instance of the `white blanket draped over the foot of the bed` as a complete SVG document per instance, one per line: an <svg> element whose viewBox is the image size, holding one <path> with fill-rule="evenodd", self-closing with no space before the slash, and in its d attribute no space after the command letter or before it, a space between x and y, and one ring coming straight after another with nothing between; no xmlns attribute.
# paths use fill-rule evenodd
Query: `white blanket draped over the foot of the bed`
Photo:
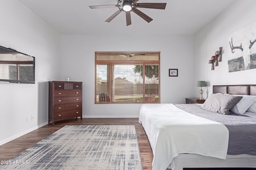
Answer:
<svg viewBox="0 0 256 170"><path fill-rule="evenodd" d="M143 104L139 122L150 142L152 170L174 170L180 153L226 159L228 129L221 123L187 113L173 104Z"/></svg>

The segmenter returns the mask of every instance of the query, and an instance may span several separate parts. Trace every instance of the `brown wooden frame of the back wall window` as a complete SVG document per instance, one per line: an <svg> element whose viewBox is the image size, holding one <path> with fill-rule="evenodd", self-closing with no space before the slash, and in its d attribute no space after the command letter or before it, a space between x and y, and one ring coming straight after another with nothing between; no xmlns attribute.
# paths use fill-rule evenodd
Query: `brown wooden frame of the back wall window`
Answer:
<svg viewBox="0 0 256 170"><path fill-rule="evenodd" d="M131 61L131 60L128 60L128 61L119 61L119 60L97 60L97 55L98 54L102 54L102 53L111 53L111 54L124 54L124 55L129 55L129 54L157 54L158 56L158 59L157 60L152 60L152 61L148 61L148 60L136 60L136 61ZM108 65L107 67L107 70L109 69L110 70L110 77L107 78L110 80L110 82L107 81L107 83L109 83L107 86L109 86L109 90L110 90L110 96L109 97L109 101L104 101L104 102L100 102L98 101L97 102L97 65ZM124 64L124 65L142 65L143 66L143 76L142 76L142 90L143 90L143 101L142 102L115 102L113 101L113 83L114 83L114 65L118 65L118 64ZM150 102L150 101L146 101L146 95L148 94L145 94L145 85L147 84L146 83L146 76L145 76L145 65L146 64L156 64L158 65L158 95L157 95L157 99L156 101L154 102ZM108 74L108 73L107 73ZM160 52L95 52L95 82L94 82L94 104L144 104L144 103L160 103ZM157 88L156 88L157 89Z"/></svg>

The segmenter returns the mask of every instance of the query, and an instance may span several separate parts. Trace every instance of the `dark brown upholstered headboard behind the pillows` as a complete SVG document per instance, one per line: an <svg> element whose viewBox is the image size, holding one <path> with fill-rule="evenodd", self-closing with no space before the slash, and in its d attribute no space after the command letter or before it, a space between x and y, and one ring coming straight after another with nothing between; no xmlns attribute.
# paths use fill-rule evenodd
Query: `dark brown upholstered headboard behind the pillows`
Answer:
<svg viewBox="0 0 256 170"><path fill-rule="evenodd" d="M217 85L212 86L212 92L256 96L256 85Z"/></svg>

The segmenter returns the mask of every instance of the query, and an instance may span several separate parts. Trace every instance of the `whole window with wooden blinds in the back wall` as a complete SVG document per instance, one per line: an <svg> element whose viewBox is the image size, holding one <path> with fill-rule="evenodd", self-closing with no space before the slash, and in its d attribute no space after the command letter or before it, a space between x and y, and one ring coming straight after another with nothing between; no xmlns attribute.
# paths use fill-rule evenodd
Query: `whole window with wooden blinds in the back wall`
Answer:
<svg viewBox="0 0 256 170"><path fill-rule="evenodd" d="M160 103L160 52L95 52L94 102Z"/></svg>

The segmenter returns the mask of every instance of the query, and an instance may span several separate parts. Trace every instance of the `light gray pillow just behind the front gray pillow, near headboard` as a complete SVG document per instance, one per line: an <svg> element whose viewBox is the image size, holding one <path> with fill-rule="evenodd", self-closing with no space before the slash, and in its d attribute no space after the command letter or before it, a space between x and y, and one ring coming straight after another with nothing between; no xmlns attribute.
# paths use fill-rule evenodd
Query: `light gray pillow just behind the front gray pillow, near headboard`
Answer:
<svg viewBox="0 0 256 170"><path fill-rule="evenodd" d="M250 95L235 95L235 96L242 96L243 98L230 110L231 113L242 115L246 112L246 110L249 107L251 107L256 102L256 96L250 96ZM256 104L255 104L255 110L256 110Z"/></svg>

